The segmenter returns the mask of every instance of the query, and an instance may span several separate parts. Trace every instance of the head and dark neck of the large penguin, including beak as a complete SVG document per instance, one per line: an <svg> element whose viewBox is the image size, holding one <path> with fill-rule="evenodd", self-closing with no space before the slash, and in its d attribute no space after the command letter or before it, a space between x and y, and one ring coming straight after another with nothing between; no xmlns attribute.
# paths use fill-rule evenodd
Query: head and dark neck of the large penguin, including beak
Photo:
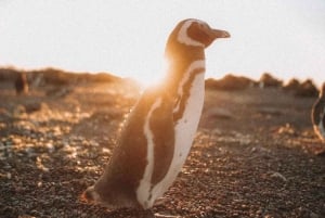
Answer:
<svg viewBox="0 0 325 218"><path fill-rule="evenodd" d="M218 38L229 37L227 31L213 29L206 22L195 18L181 21L169 35L165 50L168 64L166 80L170 89L178 89L190 64L205 60L206 48Z"/></svg>

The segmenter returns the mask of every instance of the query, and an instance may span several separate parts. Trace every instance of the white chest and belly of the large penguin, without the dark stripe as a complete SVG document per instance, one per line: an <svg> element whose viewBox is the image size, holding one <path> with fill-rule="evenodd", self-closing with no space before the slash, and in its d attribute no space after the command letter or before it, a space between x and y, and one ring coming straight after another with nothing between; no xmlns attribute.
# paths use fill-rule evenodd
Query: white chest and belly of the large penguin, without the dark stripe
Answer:
<svg viewBox="0 0 325 218"><path fill-rule="evenodd" d="M186 80L190 79L191 73L195 72L195 69L197 68L205 68L204 60L195 61L188 66L186 70L186 76L182 79L181 84L184 85ZM181 88L179 89L179 93L183 93ZM192 87L190 89L190 95L191 97L186 102L186 107L183 113L183 117L179 119L178 124L174 126L174 153L170 167L165 178L153 188L153 200L160 197L166 192L166 190L172 184L179 171L181 170L192 146L204 104L204 72L195 75Z"/></svg>

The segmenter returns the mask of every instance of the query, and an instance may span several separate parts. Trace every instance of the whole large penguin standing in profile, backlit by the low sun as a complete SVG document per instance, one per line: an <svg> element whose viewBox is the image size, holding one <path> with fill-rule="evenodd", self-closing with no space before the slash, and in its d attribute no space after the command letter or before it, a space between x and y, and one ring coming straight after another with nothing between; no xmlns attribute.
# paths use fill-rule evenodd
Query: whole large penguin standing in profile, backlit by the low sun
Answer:
<svg viewBox="0 0 325 218"><path fill-rule="evenodd" d="M108 208L151 208L181 170L200 118L205 49L229 38L203 21L180 22L166 46L168 72L128 115L102 177L82 197Z"/></svg>

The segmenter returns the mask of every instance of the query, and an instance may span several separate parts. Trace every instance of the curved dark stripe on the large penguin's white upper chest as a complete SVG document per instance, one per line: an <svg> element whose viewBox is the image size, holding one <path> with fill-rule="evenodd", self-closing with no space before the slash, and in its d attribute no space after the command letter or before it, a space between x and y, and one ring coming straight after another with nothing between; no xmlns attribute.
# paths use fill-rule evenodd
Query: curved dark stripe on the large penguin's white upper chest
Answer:
<svg viewBox="0 0 325 218"><path fill-rule="evenodd" d="M205 72L205 67L199 67L199 68L195 68L193 72L190 73L191 75L190 75L187 81L185 81L185 84L182 87L182 92L179 93L177 97L174 108L178 107L178 110L176 112L173 112L174 123L177 123L178 120L180 120L183 117L186 103L190 99L190 90L193 86L193 81L198 74L204 73L204 72Z"/></svg>

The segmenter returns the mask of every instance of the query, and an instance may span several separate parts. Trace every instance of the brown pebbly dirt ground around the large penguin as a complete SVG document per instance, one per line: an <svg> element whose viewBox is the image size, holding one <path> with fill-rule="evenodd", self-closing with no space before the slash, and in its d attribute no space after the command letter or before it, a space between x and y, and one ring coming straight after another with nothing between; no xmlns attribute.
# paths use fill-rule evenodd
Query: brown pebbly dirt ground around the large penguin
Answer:
<svg viewBox="0 0 325 218"><path fill-rule="evenodd" d="M102 174L139 92L118 84L0 84L0 217L143 217L79 200ZM190 156L153 213L162 217L325 217L325 144L315 98L207 90Z"/></svg>

